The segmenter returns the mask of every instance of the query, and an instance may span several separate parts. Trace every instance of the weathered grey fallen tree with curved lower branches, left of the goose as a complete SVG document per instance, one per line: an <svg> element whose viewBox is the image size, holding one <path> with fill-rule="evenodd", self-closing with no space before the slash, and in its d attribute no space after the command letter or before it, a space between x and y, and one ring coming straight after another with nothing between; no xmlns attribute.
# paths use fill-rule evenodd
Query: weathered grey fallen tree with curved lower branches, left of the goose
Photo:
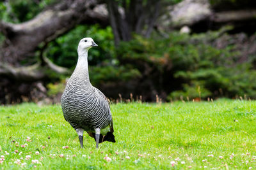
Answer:
<svg viewBox="0 0 256 170"><path fill-rule="evenodd" d="M5 37L0 46L0 103L36 101L46 97L42 81L55 78L49 73L56 76L70 73L44 56L47 43L77 24L96 23L102 26L109 23L106 4L97 0L63 0L20 24L0 20L0 33ZM40 54L35 59L38 50ZM22 60L29 62L22 66Z"/></svg>

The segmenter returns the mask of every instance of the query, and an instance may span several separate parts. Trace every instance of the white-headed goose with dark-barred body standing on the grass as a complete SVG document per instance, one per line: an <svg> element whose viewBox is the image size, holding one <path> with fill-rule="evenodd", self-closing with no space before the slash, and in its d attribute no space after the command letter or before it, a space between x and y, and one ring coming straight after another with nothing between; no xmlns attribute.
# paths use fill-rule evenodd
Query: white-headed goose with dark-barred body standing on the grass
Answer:
<svg viewBox="0 0 256 170"><path fill-rule="evenodd" d="M76 130L83 148L83 132L99 143L115 143L113 119L109 101L99 89L90 83L88 72L88 50L98 46L92 38L79 41L76 68L67 81L61 96L61 108L65 120Z"/></svg>

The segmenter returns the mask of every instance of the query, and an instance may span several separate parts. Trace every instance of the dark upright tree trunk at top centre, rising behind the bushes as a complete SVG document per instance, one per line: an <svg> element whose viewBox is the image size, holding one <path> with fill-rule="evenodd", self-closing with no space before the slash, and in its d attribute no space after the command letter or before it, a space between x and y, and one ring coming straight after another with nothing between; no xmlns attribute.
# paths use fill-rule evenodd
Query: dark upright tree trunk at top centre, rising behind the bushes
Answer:
<svg viewBox="0 0 256 170"><path fill-rule="evenodd" d="M115 45L129 41L132 32L149 37L161 9L161 1L108 0L109 21L115 36Z"/></svg>

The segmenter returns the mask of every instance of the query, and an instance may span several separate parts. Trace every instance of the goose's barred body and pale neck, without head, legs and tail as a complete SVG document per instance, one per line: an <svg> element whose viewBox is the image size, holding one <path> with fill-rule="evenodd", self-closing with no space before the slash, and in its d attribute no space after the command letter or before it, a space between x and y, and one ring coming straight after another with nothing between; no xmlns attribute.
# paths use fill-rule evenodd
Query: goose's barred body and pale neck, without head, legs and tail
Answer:
<svg viewBox="0 0 256 170"><path fill-rule="evenodd" d="M96 128L104 129L109 125L113 132L108 99L90 83L87 52L79 55L76 69L61 96L61 107L65 120L74 129L95 132Z"/></svg>

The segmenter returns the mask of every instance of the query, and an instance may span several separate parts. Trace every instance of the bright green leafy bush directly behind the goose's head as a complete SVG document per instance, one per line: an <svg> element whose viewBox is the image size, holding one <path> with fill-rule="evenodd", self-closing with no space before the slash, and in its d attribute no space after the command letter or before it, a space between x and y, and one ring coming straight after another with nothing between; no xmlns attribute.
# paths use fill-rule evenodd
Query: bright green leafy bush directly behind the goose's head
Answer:
<svg viewBox="0 0 256 170"><path fill-rule="evenodd" d="M111 27L101 29L99 25L91 27L78 25L64 36L49 43L45 55L59 66L72 68L77 62L77 45L81 38L91 37L99 46L97 50L90 50L88 61L95 66L103 61L111 62L114 59L114 43Z"/></svg>

